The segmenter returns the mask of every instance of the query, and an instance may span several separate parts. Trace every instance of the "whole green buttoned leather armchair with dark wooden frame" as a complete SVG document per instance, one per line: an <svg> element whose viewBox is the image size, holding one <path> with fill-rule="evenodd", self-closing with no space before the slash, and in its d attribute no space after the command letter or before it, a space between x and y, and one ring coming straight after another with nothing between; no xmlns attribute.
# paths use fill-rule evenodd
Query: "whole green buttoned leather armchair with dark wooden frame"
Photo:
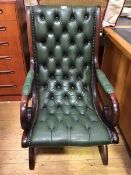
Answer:
<svg viewBox="0 0 131 175"><path fill-rule="evenodd" d="M119 106L97 62L100 8L38 5L27 14L31 66L20 119L29 168L35 148L53 146L98 146L107 165L107 145L119 142Z"/></svg>

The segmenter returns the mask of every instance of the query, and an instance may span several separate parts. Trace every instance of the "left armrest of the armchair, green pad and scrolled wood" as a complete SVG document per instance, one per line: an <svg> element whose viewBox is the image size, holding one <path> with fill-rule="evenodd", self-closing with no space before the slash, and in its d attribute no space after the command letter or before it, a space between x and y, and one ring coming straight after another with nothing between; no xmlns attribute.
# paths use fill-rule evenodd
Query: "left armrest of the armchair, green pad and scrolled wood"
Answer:
<svg viewBox="0 0 131 175"><path fill-rule="evenodd" d="M31 107L28 107L29 99L31 98L32 84L34 79L34 71L30 70L27 74L23 90L22 90L22 99L20 103L20 121L21 127L24 130L30 128L30 119L31 119Z"/></svg>

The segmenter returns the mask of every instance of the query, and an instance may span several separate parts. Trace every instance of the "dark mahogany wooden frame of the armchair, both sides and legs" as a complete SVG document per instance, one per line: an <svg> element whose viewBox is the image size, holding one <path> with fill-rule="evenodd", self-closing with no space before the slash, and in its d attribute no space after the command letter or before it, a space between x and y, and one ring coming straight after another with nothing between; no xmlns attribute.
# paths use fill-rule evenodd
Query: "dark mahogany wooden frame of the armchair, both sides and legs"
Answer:
<svg viewBox="0 0 131 175"><path fill-rule="evenodd" d="M97 27L96 27L96 38L95 38L95 66L94 66L94 86L93 86L93 95L94 95L94 102L95 106L97 107L98 111L102 113L102 120L106 122L106 124L110 127L113 137L114 143L118 143L119 139L117 137L116 131L114 126L117 125L119 120L119 104L116 99L114 93L106 94L109 101L110 106L104 105L103 99L100 96L99 89L97 88L96 82L96 69L99 69L98 64L98 51L99 51L99 32L100 32L100 8L97 10ZM99 18L98 18L99 17ZM27 31L28 31L28 41L29 41L29 50L30 50L30 69L34 70L34 61L33 61L33 51L32 51L32 35L31 35L31 25L30 25L30 9L27 7L26 9L26 19L27 19ZM32 84L32 93L29 96L22 96L21 104L20 104L20 119L21 119L21 126L24 129L23 136L22 136L22 147L29 147L29 169L33 170L35 167L35 153L34 147L30 147L28 145L28 132L31 128L32 122L35 120L35 114L37 110L37 97L36 97L36 90L35 85ZM32 97L32 107L28 107L28 102ZM103 110L103 112L102 112ZM111 117L112 116L112 117ZM98 146L101 159L104 165L108 164L108 147L107 145L99 145Z"/></svg>

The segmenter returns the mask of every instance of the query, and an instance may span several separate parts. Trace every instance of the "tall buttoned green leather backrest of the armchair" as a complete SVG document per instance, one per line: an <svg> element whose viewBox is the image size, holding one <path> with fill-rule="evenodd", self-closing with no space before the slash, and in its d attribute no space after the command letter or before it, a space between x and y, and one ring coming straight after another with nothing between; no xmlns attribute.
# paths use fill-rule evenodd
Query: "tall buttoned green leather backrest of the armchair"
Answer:
<svg viewBox="0 0 131 175"><path fill-rule="evenodd" d="M93 108L96 7L34 6L31 25L39 107Z"/></svg>

